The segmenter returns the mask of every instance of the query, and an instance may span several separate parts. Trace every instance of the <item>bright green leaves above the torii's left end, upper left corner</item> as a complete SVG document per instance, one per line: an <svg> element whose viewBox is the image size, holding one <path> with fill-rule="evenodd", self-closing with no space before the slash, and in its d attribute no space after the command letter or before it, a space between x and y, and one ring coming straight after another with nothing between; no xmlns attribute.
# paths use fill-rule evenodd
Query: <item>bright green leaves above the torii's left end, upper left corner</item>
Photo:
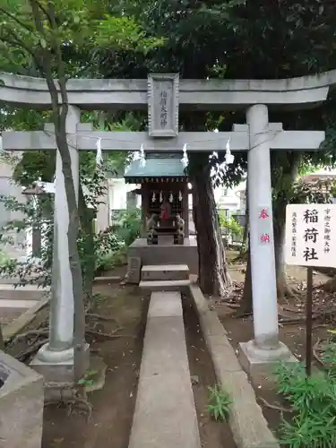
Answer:
<svg viewBox="0 0 336 448"><path fill-rule="evenodd" d="M146 53L163 44L163 39L149 36L134 16L116 11L114 4L2 0L0 70L21 74L35 70L35 75L63 71L69 77L86 70L92 75L97 56L105 49Z"/></svg>

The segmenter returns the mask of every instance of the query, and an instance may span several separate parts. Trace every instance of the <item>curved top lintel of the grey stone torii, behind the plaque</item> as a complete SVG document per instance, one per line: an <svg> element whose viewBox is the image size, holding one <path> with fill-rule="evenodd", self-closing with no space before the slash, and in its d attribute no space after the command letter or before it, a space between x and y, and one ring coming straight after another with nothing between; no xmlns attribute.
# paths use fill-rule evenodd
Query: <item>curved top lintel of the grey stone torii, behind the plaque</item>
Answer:
<svg viewBox="0 0 336 448"><path fill-rule="evenodd" d="M171 73L174 74L174 73ZM151 73L158 76L157 73ZM160 73L162 76L162 73ZM165 76L165 74L163 74ZM0 104L20 108L51 108L47 82L11 73L0 73ZM70 79L66 83L69 104L83 110L146 110L148 79ZM178 103L184 110L249 108L312 108L327 99L336 85L336 71L280 80L179 80ZM59 89L58 89L59 90ZM61 95L59 102L62 103Z"/></svg>

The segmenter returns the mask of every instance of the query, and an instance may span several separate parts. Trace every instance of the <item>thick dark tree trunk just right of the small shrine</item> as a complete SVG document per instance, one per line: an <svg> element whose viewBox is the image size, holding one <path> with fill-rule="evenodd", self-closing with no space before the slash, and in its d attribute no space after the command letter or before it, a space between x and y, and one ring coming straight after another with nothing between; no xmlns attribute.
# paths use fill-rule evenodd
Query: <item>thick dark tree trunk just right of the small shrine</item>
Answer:
<svg viewBox="0 0 336 448"><path fill-rule="evenodd" d="M205 165L206 166L206 165ZM194 225L199 257L199 283L204 294L224 297L231 285L209 169L193 177Z"/></svg>

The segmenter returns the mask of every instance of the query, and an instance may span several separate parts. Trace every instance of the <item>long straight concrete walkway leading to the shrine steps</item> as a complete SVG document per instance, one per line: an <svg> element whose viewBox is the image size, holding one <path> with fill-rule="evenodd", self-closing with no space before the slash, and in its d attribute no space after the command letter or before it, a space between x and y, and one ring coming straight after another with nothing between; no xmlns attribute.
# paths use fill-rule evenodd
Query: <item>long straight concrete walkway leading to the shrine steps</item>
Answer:
<svg viewBox="0 0 336 448"><path fill-rule="evenodd" d="M201 448L179 292L153 292L129 448Z"/></svg>

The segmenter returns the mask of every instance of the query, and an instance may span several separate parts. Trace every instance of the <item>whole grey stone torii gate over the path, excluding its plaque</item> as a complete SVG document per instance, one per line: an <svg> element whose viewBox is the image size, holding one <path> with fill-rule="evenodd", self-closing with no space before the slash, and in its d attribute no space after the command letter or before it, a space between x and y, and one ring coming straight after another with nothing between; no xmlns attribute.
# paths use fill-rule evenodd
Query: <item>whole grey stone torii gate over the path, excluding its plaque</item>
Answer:
<svg viewBox="0 0 336 448"><path fill-rule="evenodd" d="M0 75L0 102L16 107L50 108L50 95L42 79ZM66 121L76 189L79 183L78 151L188 152L248 151L248 183L254 307L254 340L242 344L251 362L289 356L278 336L277 292L271 215L270 150L317 150L324 132L284 131L270 124L269 108L312 108L327 98L336 83L336 72L277 81L179 80L177 74L153 74L148 80L70 80L67 82L69 113ZM101 110L148 108L149 133L93 131L81 124L82 109ZM231 133L178 133L178 110L223 110L246 108L246 125L234 125ZM8 151L57 151L54 129L5 132L3 148ZM65 366L73 366L73 296L68 262L67 207L62 161L56 157L55 257L50 338L33 362L42 373L59 379ZM50 369L50 366L52 368ZM59 370L57 370L59 367Z"/></svg>

